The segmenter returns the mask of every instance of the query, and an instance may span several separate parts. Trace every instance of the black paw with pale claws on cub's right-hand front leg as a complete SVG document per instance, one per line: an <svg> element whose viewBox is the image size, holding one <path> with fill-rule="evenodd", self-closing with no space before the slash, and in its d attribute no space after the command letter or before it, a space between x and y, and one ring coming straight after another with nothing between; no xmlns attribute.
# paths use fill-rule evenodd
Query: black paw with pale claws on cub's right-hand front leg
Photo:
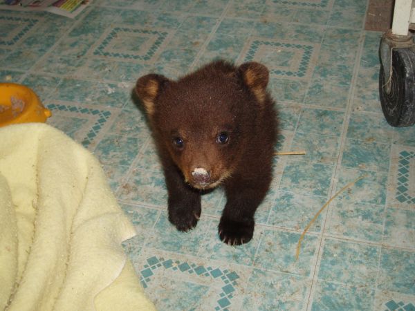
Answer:
<svg viewBox="0 0 415 311"><path fill-rule="evenodd" d="M255 221L253 218L236 221L222 217L219 223L219 238L228 245L248 243L254 235L254 227Z"/></svg>

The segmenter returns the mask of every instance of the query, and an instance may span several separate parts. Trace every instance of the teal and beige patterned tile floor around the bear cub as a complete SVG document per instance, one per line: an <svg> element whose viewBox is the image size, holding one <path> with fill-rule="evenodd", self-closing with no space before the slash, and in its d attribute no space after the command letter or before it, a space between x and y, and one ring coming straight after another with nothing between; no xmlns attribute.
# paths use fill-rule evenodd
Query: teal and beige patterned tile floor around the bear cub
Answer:
<svg viewBox="0 0 415 311"><path fill-rule="evenodd" d="M93 151L138 236L124 243L159 310L415 310L415 127L378 99L380 32L365 0L94 0L76 19L0 10L0 81L32 87L49 124ZM270 69L281 117L275 178L255 236L229 247L225 204L203 197L192 232L167 220L163 173L130 99L149 72L217 57ZM333 200L295 248L302 230Z"/></svg>

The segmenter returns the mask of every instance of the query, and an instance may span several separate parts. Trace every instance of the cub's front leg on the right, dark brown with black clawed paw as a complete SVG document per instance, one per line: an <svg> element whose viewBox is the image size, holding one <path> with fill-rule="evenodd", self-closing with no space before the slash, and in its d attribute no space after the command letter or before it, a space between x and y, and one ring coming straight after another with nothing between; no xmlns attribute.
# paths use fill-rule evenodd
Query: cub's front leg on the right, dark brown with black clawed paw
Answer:
<svg viewBox="0 0 415 311"><path fill-rule="evenodd" d="M225 185L228 201L219 222L219 238L223 243L241 245L252 239L255 211L266 196L269 185L270 178L249 182L232 178L232 181Z"/></svg>

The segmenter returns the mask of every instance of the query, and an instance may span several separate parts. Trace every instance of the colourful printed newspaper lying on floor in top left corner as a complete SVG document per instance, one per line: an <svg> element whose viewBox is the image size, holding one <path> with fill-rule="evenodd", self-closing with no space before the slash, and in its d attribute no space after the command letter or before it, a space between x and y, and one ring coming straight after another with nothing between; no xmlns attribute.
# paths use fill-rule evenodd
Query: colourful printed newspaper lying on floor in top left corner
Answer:
<svg viewBox="0 0 415 311"><path fill-rule="evenodd" d="M92 0L0 0L0 10L45 11L74 18Z"/></svg>

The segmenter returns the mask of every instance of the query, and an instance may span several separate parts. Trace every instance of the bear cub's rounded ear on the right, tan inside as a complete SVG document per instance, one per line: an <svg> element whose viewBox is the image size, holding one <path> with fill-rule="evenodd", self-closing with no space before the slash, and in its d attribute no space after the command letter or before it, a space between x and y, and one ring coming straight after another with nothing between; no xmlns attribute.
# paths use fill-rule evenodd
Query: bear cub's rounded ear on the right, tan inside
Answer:
<svg viewBox="0 0 415 311"><path fill-rule="evenodd" d="M258 102L260 104L264 103L269 79L266 66L257 62L248 62L239 66L238 70L243 77L243 82L255 94Z"/></svg>

